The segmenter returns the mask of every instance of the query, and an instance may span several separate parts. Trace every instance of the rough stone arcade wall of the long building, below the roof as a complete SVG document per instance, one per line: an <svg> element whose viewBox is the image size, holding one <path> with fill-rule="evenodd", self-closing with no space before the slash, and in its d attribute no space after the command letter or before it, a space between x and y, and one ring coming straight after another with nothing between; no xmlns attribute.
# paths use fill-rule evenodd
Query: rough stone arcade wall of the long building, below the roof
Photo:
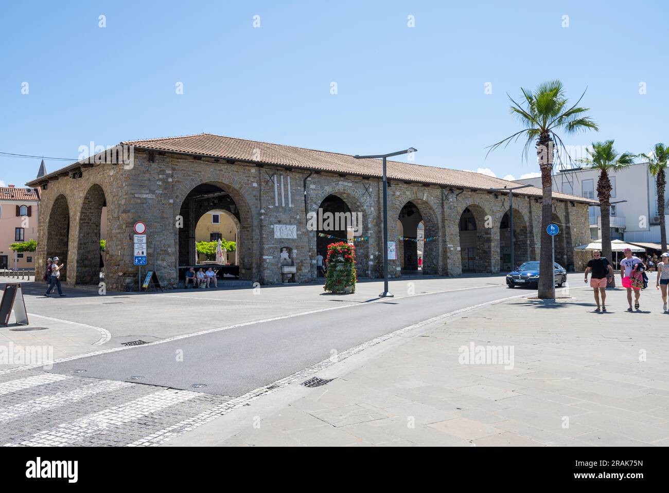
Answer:
<svg viewBox="0 0 669 493"><path fill-rule="evenodd" d="M147 267L155 267L165 287L176 287L181 204L193 188L203 183L216 184L235 202L240 218L237 258L242 279L263 284L282 282L279 254L284 247L292 251L296 281L316 279L316 231L308 230L307 213L317 212L330 194L344 200L351 212L362 213L360 236L368 239L355 242L359 277L383 275L383 192L379 179L142 150L134 151L132 167L96 164L82 173L76 179L61 176L43 190L36 254L38 279L44 269L41 259L66 255L68 284L94 283L99 267L94 249L99 240L98 209L106 201L107 289L137 289L132 225L138 220L147 224ZM398 246L397 218L409 201L422 216L425 238L436 238L424 244L425 274L462 273L459 223L465 208L470 208L476 218L476 270L500 271L500 221L509 207L506 194L391 181L388 238ZM513 204L516 241L523 242L527 257L539 259L541 200L517 195ZM575 257L573 246L589 238L587 205L555 200L554 210L559 222L571 224L559 238L565 242L565 267L579 268L581 260ZM64 216L70 221L66 245ZM398 255L397 260L389 261L391 277L401 275L400 259Z"/></svg>

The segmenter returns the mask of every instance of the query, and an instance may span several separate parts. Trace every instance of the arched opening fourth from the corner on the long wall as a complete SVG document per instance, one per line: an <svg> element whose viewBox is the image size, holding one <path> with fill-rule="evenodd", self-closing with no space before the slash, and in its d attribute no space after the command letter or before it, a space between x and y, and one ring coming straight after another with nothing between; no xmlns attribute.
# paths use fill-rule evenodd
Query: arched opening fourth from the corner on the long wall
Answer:
<svg viewBox="0 0 669 493"><path fill-rule="evenodd" d="M492 219L488 217L492 222ZM460 255L462 272L492 272L491 229L486 224L486 213L476 205L467 206L460 214Z"/></svg>

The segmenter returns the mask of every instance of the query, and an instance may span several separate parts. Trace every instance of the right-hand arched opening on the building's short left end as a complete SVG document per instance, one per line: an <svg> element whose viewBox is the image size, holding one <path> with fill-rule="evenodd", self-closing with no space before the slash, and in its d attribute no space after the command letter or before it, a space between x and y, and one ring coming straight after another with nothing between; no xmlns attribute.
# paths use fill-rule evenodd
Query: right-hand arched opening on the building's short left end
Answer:
<svg viewBox="0 0 669 493"><path fill-rule="evenodd" d="M106 232L106 225L104 228L102 227L102 210L106 205L102 187L98 184L92 185L84 196L81 212L79 213L76 259L77 284L97 285L100 283L100 279L104 279L104 261L100 240Z"/></svg>

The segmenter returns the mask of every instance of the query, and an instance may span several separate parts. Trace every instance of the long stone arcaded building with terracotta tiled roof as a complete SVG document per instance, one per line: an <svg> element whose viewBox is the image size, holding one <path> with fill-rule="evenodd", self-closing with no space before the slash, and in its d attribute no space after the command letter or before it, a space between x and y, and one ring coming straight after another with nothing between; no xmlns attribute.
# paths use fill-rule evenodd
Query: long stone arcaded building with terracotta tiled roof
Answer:
<svg viewBox="0 0 669 493"><path fill-rule="evenodd" d="M397 251L397 259L389 262L391 276L415 271L418 242L413 239L419 223L425 237L425 275L500 271L509 246L508 196L493 189L516 184L474 172L392 161L388 179L388 236ZM98 283L103 207L104 274L112 290L136 289L132 226L138 220L147 224L148 267L155 266L164 286L177 287L179 267L195 263L195 224L210 210L227 211L239 223L237 264L242 279L280 283L279 255L285 248L296 266L295 280L314 280L316 251L337 241L328 236L346 238L353 226L355 238L362 238L355 242L359 277L382 275L379 160L198 134L121 142L28 185L42 190L36 256L66 259L69 285ZM556 261L567 269L580 268L577 255L582 254L573 247L589 240L588 206L596 202L559 192L553 197L554 219L562 225ZM348 222L312 221L316 227L309 228L309 213L319 208L339 213ZM352 224L353 216L360 218L359 224ZM539 188L514 192L513 218L516 264L539 259L545 234ZM412 265L405 265L409 259ZM38 270L39 266L40 262Z"/></svg>

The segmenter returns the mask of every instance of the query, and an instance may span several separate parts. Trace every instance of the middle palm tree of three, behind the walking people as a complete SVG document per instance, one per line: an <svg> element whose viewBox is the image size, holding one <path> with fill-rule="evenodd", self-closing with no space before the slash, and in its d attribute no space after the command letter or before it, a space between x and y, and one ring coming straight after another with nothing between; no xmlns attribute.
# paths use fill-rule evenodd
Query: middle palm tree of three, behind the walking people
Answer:
<svg viewBox="0 0 669 493"><path fill-rule="evenodd" d="M601 256L611 260L611 180L609 172L617 172L634 164L635 154L618 154L613 148L613 140L593 142L592 149L587 149L587 158L578 162L587 164L593 170L599 170L597 179L597 198L601 214Z"/></svg>

